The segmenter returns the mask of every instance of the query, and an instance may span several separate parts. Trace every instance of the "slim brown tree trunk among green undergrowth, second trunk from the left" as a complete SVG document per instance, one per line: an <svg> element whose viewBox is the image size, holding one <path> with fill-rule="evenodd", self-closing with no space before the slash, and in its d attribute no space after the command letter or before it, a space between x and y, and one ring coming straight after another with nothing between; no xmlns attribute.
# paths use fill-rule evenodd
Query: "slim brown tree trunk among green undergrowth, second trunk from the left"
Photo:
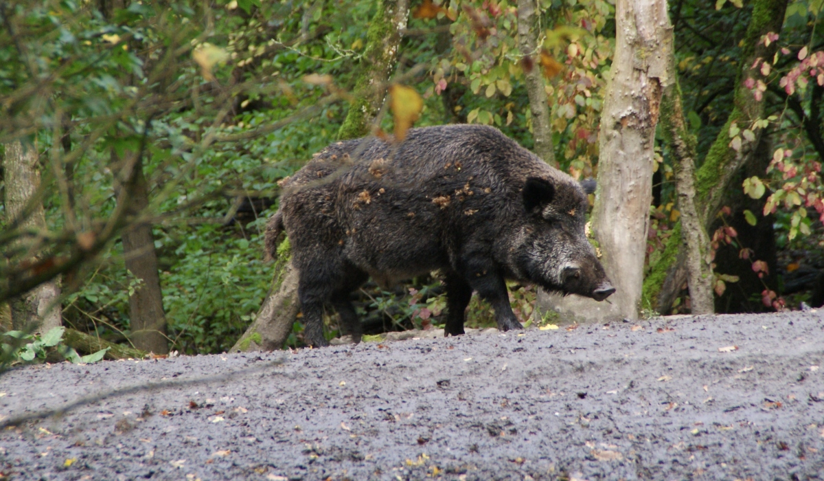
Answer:
<svg viewBox="0 0 824 481"><path fill-rule="evenodd" d="M115 154L112 153L113 157ZM136 155L130 153L129 155ZM126 208L129 217L138 218L146 210L148 186L143 175L143 162L138 158L132 172L131 182L126 188L129 196ZM157 253L152 237L152 225L147 222L134 222L120 234L123 241L123 254L128 269L141 282L134 294L129 296L129 321L134 347L141 351L166 354L169 345L166 342L166 316L163 314L163 294L160 289L160 276L157 274Z"/></svg>

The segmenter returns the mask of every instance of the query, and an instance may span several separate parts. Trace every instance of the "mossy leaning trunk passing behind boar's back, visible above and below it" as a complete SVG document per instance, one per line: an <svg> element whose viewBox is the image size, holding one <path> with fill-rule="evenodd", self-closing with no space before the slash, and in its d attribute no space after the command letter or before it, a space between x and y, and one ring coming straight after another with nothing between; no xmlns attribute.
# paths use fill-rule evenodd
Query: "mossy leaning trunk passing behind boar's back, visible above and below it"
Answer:
<svg viewBox="0 0 824 481"><path fill-rule="evenodd" d="M367 31L367 45L355 81L355 101L349 106L338 132L338 138L342 140L369 134L369 126L386 97L386 84L395 68L400 39L409 18L409 0L378 0L377 6L377 13ZM279 252L269 293L255 321L246 328L230 351L272 351L283 347L300 310L298 273L292 265L290 252L288 249Z"/></svg>

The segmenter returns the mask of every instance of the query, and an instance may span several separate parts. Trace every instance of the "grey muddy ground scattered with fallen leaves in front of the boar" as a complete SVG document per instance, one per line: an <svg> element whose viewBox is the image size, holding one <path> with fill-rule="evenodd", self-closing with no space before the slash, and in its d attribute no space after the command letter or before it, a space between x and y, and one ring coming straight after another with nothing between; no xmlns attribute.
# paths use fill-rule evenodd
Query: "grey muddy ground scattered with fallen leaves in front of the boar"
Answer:
<svg viewBox="0 0 824 481"><path fill-rule="evenodd" d="M819 311L30 366L0 375L0 472L822 479L822 363Z"/></svg>

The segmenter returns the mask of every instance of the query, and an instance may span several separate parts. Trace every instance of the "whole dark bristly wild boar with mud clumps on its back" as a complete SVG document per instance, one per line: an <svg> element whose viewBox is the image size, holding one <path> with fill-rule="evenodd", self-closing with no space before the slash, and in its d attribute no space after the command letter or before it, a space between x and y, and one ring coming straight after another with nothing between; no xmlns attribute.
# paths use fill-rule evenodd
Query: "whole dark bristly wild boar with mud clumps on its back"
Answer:
<svg viewBox="0 0 824 481"><path fill-rule="evenodd" d="M447 336L464 332L473 290L501 331L520 329L504 279L597 300L615 292L584 233L586 194L488 126L412 129L399 144L349 140L283 183L266 250L275 255L285 229L304 337L315 347L327 345L325 304L358 342L353 290L369 276L389 285L435 270L447 290Z"/></svg>

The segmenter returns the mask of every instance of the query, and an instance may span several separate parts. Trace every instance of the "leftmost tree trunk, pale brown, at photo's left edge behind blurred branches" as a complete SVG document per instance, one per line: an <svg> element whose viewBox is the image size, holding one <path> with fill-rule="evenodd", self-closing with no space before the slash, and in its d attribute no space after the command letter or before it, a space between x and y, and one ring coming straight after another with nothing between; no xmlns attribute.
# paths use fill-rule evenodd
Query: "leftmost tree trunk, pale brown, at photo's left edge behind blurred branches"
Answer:
<svg viewBox="0 0 824 481"><path fill-rule="evenodd" d="M10 223L19 222L26 232L14 245L23 257L35 259L40 252L36 233L46 229L43 203L35 199L40 190L40 166L35 145L17 140L5 145L3 162L6 215ZM62 323L60 288L57 281L44 282L11 301L12 327L47 332Z"/></svg>

